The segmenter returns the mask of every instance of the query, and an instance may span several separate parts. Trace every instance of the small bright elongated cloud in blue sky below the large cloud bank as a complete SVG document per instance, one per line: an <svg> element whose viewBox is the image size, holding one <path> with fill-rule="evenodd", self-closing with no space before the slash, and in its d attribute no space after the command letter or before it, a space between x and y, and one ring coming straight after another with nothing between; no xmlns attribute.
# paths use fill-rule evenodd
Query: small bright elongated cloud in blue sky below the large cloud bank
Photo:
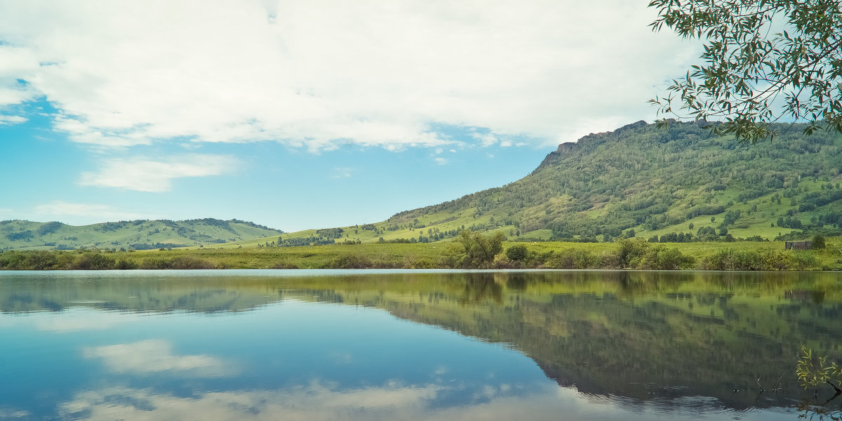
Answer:
<svg viewBox="0 0 842 421"><path fill-rule="evenodd" d="M187 155L167 161L149 158L106 159L96 173L82 173L81 185L114 187L147 192L172 189L172 180L231 173L237 160L220 155Z"/></svg>

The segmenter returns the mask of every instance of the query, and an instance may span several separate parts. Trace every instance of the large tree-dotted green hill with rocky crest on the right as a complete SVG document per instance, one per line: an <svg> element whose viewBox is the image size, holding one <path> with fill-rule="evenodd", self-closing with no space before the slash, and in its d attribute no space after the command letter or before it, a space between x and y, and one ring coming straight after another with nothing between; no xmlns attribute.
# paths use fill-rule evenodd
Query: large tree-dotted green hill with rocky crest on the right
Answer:
<svg viewBox="0 0 842 421"><path fill-rule="evenodd" d="M839 235L842 136L780 125L749 145L696 124L639 121L564 143L525 178L387 221L281 236L281 245L434 242L461 228L509 239L668 242ZM276 237L255 240L272 245Z"/></svg>

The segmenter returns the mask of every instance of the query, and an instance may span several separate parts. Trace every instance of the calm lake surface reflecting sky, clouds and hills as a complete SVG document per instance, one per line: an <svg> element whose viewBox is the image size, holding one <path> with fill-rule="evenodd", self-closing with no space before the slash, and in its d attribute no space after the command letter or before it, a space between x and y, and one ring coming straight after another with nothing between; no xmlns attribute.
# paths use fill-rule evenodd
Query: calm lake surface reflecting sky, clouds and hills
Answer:
<svg viewBox="0 0 842 421"><path fill-rule="evenodd" d="M842 274L0 272L0 419L839 415L802 344Z"/></svg>

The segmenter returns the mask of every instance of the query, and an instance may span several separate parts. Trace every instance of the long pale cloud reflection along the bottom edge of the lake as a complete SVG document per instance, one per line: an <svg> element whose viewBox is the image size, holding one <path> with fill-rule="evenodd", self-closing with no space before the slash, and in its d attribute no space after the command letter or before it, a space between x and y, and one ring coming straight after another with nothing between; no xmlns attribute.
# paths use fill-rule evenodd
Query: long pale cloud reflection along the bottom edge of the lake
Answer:
<svg viewBox="0 0 842 421"><path fill-rule="evenodd" d="M489 386L495 387L495 386ZM504 385L496 386L499 390ZM340 389L314 381L308 386L294 386L278 391L230 391L195 393L179 397L152 389L123 386L79 392L59 406L62 419L93 421L132 419L202 419L226 420L558 420L591 419L643 421L651 419L695 419L709 411L688 412L672 405L643 404L634 411L621 408L619 402L592 402L573 388L547 387L528 396L493 398L456 406L440 406L447 386L428 384L405 386L387 382L382 386ZM445 398L446 399L446 398ZM705 406L705 405L703 405ZM705 406L706 407L706 406ZM696 408L713 409L713 408ZM717 417L756 420L789 420L786 411L730 411L721 407Z"/></svg>

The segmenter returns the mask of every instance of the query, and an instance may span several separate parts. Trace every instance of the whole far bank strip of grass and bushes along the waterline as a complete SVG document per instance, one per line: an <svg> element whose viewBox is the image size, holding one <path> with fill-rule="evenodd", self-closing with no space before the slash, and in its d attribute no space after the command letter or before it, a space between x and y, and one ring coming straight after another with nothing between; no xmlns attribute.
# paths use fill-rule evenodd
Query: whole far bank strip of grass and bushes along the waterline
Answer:
<svg viewBox="0 0 842 421"><path fill-rule="evenodd" d="M842 269L838 239L822 250L785 250L783 242L504 242L481 269ZM457 242L333 244L289 248L85 249L0 253L0 269L450 269Z"/></svg>

